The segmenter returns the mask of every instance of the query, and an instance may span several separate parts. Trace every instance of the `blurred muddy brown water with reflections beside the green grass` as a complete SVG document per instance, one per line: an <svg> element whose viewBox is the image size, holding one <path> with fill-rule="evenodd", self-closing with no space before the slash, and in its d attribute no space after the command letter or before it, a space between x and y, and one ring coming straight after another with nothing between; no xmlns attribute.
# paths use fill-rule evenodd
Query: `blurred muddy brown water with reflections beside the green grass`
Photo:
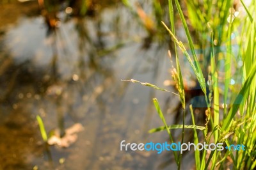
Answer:
<svg viewBox="0 0 256 170"><path fill-rule="evenodd" d="M158 98L169 123L178 98L121 81L163 87L170 79L168 44L153 40L145 49L147 31L120 4L106 6L94 17L67 19L60 12L53 31L36 1L1 8L0 169L175 168L170 153L120 151L122 140L168 139L166 132L148 134L162 125L152 98ZM84 130L68 148L47 146L36 115L47 132L75 123ZM192 160L186 161L188 166Z"/></svg>

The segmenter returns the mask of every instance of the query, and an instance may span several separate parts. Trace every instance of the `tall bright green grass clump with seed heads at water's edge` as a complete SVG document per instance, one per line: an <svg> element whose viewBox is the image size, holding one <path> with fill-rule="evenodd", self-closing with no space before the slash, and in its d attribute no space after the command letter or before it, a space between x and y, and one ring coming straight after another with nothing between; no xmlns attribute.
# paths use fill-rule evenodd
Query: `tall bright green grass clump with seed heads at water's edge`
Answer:
<svg viewBox="0 0 256 170"><path fill-rule="evenodd" d="M175 45L177 68L173 70L172 77L177 84L177 91L184 111L182 116L183 123L182 125L167 125L159 103L154 98L154 105L164 126L154 128L149 132L166 130L170 136L170 141L173 142L174 139L170 129L182 128L182 143L184 141L184 129L193 128L195 144L202 140L206 144L212 143L212 141L215 144L225 143L227 146L230 146L230 144L243 144L246 146L245 151L214 150L211 153L207 153L206 150L195 151L195 168L255 169L256 63L253 61L256 59L256 1L252 1L252 4L248 7L243 0L241 0L241 4L234 4L234 1L231 0L214 2L192 0L186 3L189 13L188 19L202 38L202 41L199 42L200 44L196 45L196 47L202 48L200 50L202 52L201 58L198 58L193 38L189 33L188 21L184 17L179 1L168 1L171 29L164 23L163 26L170 33ZM175 36L174 4L179 12L180 20L188 38L189 52L186 50L186 45ZM235 6L239 5L244 7L246 16L237 16ZM212 15L212 13L215 14ZM246 19L247 17L248 20ZM234 39L235 31L236 38ZM234 45L235 41L237 45ZM185 125L186 94L184 93L184 84L180 71L179 50L188 59L204 93L207 104L205 127L196 125L193 105L189 105L192 125ZM221 61L223 61L224 65L221 64ZM209 70L209 86L207 87L203 71L207 70L205 68L209 66L211 69ZM220 72L221 68L224 68L222 73ZM230 84L230 81L237 83ZM161 89L156 88L157 86L152 86L152 84L143 85ZM223 107L221 107L222 105ZM199 138L196 130L202 130L204 139ZM173 154L177 168L180 169L182 155L178 155L175 151L173 151ZM230 165L230 163L232 164Z"/></svg>

